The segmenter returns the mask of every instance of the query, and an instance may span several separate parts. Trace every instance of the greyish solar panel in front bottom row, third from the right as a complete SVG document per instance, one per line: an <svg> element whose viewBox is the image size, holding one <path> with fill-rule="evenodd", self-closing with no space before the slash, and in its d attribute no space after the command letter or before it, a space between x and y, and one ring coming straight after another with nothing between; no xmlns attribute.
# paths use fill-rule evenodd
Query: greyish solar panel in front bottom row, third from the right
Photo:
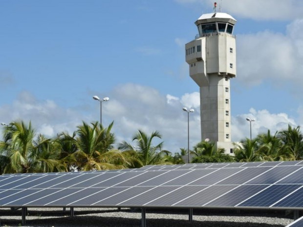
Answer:
<svg viewBox="0 0 303 227"><path fill-rule="evenodd" d="M206 206L236 206L240 202L248 199L257 192L264 189L265 185L242 185L236 189L228 192L227 194L218 197L213 202L207 204Z"/></svg>

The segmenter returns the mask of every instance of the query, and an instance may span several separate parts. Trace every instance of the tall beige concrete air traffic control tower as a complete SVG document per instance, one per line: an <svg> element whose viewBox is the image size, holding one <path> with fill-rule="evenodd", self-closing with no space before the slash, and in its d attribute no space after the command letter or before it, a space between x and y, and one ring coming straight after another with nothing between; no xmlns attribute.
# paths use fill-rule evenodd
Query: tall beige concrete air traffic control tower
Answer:
<svg viewBox="0 0 303 227"><path fill-rule="evenodd" d="M236 77L236 22L226 13L203 14L195 21L199 34L185 45L190 76L200 87L202 141L214 141L227 154L234 147L230 79Z"/></svg>

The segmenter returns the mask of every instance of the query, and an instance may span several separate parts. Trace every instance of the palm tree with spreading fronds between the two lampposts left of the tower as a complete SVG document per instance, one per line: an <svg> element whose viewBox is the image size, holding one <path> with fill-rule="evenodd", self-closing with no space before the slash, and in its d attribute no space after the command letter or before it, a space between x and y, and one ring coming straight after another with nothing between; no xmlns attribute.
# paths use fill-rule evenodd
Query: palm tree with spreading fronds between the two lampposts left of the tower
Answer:
<svg viewBox="0 0 303 227"><path fill-rule="evenodd" d="M157 164L168 164L168 160L164 159L165 155L170 152L167 150L162 150L163 142L152 145L152 140L155 138L161 139L161 134L158 131L151 133L148 136L141 130L133 136L132 141L136 141L136 146L132 146L126 141L119 144L118 149L123 151L135 151L137 153L137 158L140 160L141 165L157 165Z"/></svg>

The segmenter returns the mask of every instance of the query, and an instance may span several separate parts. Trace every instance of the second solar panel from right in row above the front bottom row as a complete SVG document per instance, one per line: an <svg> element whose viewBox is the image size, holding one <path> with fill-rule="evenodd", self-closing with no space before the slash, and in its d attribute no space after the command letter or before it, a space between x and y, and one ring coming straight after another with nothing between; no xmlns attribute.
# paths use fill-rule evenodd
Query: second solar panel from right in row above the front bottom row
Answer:
<svg viewBox="0 0 303 227"><path fill-rule="evenodd" d="M283 177L291 174L295 170L298 170L302 166L277 166L273 167L271 170L265 172L264 174L260 175L259 177L253 179L252 181L248 182L247 184L274 184L281 180Z"/></svg>

